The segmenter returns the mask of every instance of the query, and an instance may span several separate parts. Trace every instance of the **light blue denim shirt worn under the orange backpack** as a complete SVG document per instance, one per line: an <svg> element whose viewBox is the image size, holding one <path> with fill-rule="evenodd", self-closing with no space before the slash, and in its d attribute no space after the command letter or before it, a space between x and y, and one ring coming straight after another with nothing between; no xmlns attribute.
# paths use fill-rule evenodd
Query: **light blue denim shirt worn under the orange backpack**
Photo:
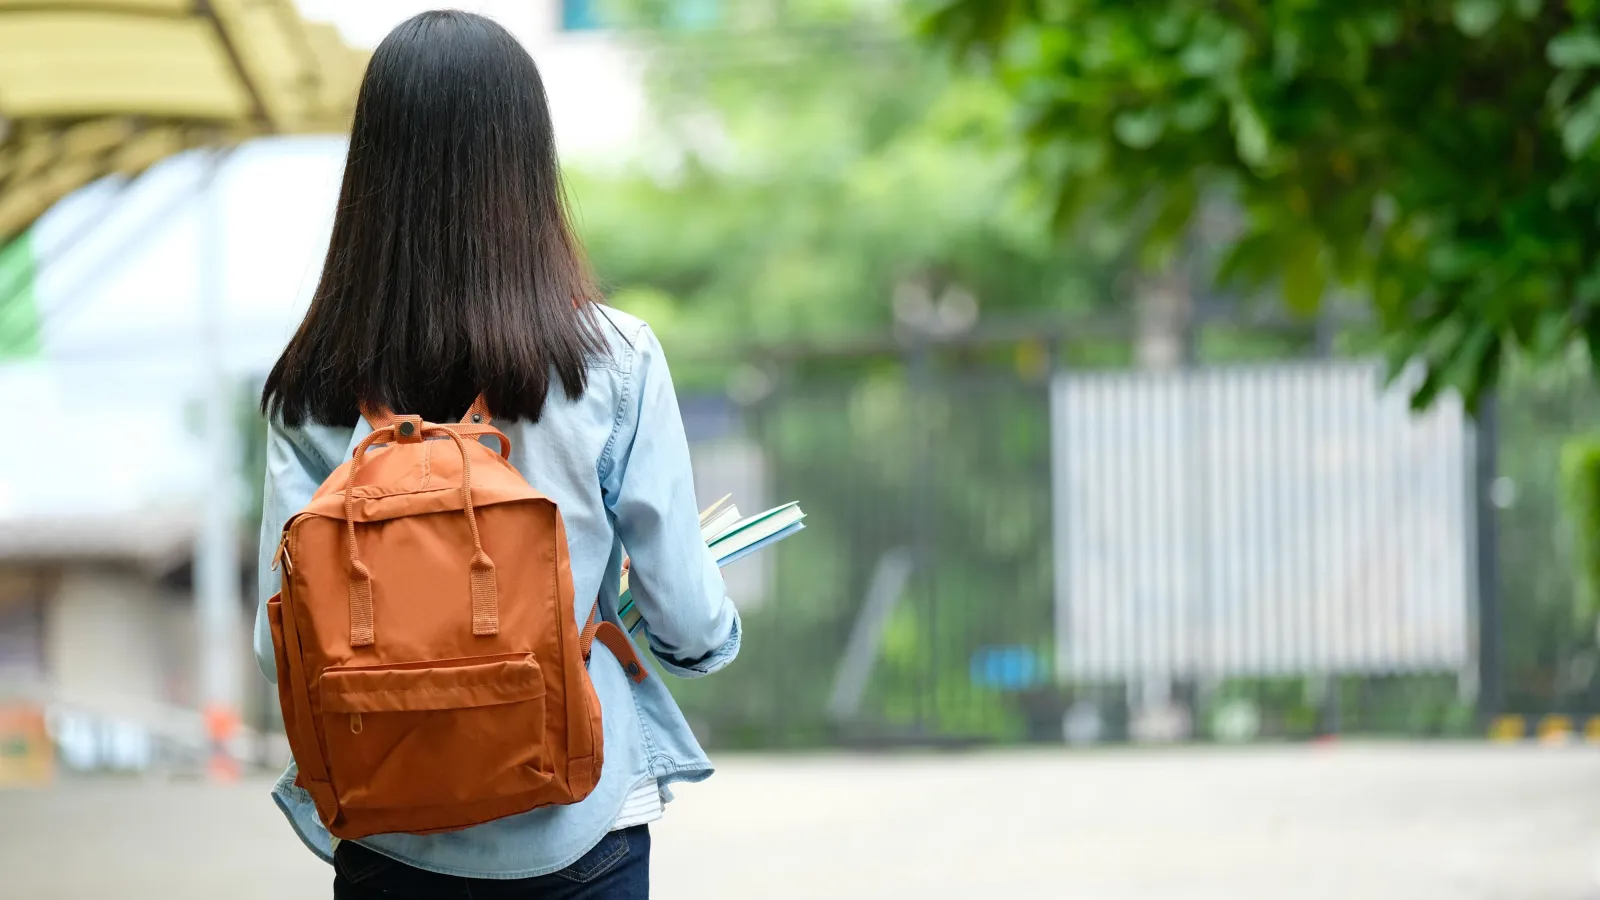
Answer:
<svg viewBox="0 0 1600 900"><path fill-rule="evenodd" d="M726 666L739 652L739 613L701 541L688 442L672 376L650 328L616 309L597 307L610 354L589 368L589 388L568 400L555 388L534 424L496 421L512 440L512 463L555 500L571 543L576 609L582 621L595 596L616 620L622 548L629 586L645 618L658 665L630 684L595 644L589 665L605 722L605 767L582 802L546 807L443 834L376 834L360 842L413 866L470 878L530 878L574 863L611 828L629 791L658 780L699 781L710 761L667 693L659 671L694 677ZM558 384L558 383L557 383ZM274 424L267 432L267 482L261 519L261 597L256 661L277 682L266 597L283 524L370 432L350 428ZM301 839L331 862L331 838L310 794L294 786L294 765L272 794Z"/></svg>

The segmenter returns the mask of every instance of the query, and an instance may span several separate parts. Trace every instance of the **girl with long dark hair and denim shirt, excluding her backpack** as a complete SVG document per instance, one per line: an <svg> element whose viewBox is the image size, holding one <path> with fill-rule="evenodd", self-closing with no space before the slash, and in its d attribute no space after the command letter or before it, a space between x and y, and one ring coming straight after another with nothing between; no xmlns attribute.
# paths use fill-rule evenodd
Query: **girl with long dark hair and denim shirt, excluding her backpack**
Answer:
<svg viewBox="0 0 1600 900"><path fill-rule="evenodd" d="M370 432L362 404L453 423L480 392L512 463L562 509L573 615L598 596L614 617L626 546L659 666L694 677L728 665L739 617L701 543L672 378L650 328L598 303L539 72L494 22L422 13L368 64L322 280L262 392L261 597L277 589L285 520ZM256 658L275 681L262 610ZM274 799L334 865L336 898L646 897L646 825L669 783L712 767L659 677L598 668L605 765L582 802L339 842L293 765Z"/></svg>

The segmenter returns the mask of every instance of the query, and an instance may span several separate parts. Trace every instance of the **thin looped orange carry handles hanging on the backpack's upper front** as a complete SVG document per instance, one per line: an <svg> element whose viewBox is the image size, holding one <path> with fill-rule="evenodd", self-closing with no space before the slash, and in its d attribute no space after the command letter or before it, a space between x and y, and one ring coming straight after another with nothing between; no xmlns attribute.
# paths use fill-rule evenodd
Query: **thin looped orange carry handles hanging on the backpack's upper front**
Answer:
<svg viewBox="0 0 1600 900"><path fill-rule="evenodd" d="M344 527L350 536L350 647L373 644L373 573L362 562L360 546L355 543L355 472L360 471L366 450L379 440L395 440L400 437L398 429L398 424L386 424L363 437L350 456L350 474L344 480ZM467 444L453 428L424 423L416 437L429 436L450 437L461 450L461 508L472 532L472 634L499 634L499 586L494 580L494 562L483 552L478 517L472 509L472 461L467 458ZM501 447L502 452L510 452L509 442L502 442Z"/></svg>

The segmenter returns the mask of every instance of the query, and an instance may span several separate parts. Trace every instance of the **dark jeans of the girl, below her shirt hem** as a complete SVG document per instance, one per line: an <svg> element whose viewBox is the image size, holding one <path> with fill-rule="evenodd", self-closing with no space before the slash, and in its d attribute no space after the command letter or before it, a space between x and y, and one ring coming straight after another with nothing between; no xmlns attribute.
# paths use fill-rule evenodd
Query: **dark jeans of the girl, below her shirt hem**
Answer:
<svg viewBox="0 0 1600 900"><path fill-rule="evenodd" d="M333 898L366 900L648 900L650 828L613 831L581 860L554 874L498 881L411 868L341 841L333 854Z"/></svg>

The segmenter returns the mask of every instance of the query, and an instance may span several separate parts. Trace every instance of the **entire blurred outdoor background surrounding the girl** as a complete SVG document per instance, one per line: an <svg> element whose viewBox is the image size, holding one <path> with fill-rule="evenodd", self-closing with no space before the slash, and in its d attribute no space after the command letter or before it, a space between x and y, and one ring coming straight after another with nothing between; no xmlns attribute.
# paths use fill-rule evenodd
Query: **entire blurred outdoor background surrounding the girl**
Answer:
<svg viewBox="0 0 1600 900"><path fill-rule="evenodd" d="M256 397L426 8L0 0L0 895L328 890ZM464 8L810 516L658 892L1600 897L1600 3Z"/></svg>

